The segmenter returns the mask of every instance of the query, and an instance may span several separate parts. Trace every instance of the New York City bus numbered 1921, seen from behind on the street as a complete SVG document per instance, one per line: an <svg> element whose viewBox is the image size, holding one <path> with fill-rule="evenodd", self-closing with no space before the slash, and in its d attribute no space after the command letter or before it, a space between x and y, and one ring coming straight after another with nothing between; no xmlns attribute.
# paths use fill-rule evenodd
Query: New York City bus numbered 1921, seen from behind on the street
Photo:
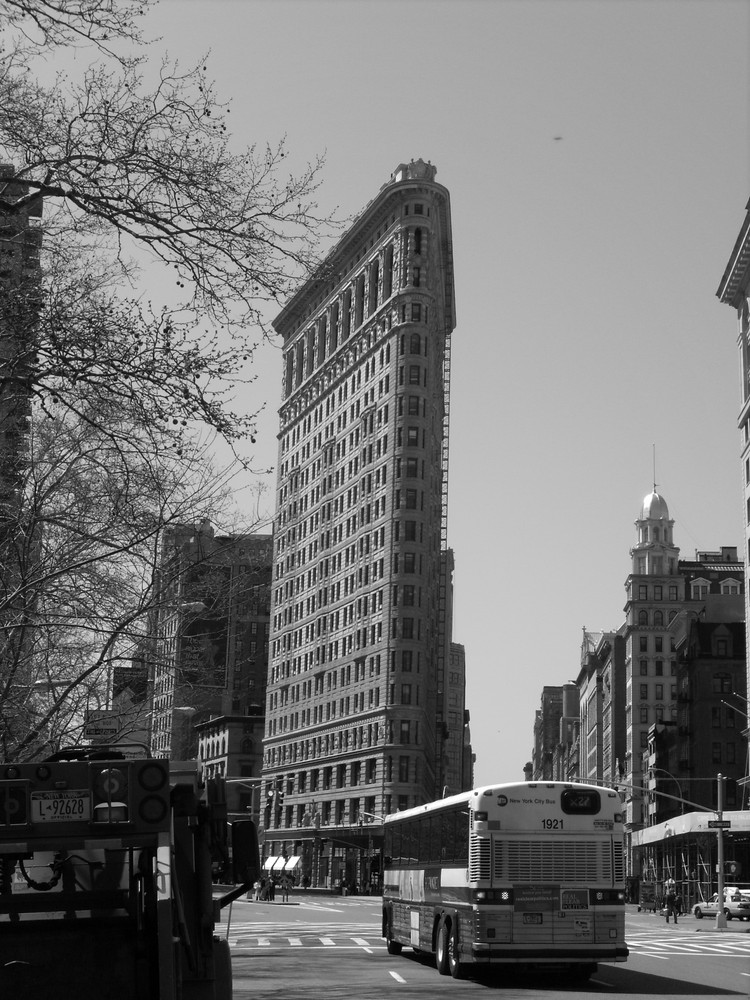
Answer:
<svg viewBox="0 0 750 1000"><path fill-rule="evenodd" d="M585 981L624 962L622 804L611 788L487 785L385 817L382 936L471 967L563 969Z"/></svg>

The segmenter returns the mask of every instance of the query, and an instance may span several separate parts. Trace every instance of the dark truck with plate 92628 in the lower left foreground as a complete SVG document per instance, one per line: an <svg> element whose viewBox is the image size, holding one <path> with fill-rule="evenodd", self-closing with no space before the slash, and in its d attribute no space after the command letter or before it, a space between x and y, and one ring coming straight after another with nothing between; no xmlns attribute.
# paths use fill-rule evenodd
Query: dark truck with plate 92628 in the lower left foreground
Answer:
<svg viewBox="0 0 750 1000"><path fill-rule="evenodd" d="M112 749L0 764L2 995L230 1000L215 925L260 866L254 824L233 830L223 791L195 761ZM217 865L234 865L220 897Z"/></svg>

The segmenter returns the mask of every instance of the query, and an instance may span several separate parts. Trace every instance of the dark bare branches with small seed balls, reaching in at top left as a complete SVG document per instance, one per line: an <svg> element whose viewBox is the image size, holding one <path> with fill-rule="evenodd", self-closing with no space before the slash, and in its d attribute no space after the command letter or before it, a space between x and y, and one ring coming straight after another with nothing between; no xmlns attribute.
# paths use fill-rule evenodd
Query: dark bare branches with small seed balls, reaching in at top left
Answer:
<svg viewBox="0 0 750 1000"><path fill-rule="evenodd" d="M206 66L146 59L147 3L0 0L10 38L0 216L44 206L43 294L26 310L39 363L24 377L43 400L80 380L142 397L157 387L173 427L197 419L228 438L252 434L252 417L228 409L227 386L247 370L266 304L318 262L331 221L314 200L321 161L292 176L283 140L235 151ZM79 79L45 86L29 71L81 44L97 59ZM154 310L124 294L148 259L169 282Z"/></svg>

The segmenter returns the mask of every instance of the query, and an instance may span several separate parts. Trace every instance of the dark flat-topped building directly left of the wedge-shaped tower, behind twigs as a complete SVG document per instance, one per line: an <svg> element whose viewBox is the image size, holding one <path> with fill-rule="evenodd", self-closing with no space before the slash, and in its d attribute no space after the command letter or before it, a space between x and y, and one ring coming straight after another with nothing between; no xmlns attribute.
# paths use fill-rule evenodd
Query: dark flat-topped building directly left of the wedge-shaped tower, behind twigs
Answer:
<svg viewBox="0 0 750 1000"><path fill-rule="evenodd" d="M208 777L235 779L230 813L256 817L271 560L270 535L218 535L208 522L168 529L153 648L143 654L154 755L198 757Z"/></svg>

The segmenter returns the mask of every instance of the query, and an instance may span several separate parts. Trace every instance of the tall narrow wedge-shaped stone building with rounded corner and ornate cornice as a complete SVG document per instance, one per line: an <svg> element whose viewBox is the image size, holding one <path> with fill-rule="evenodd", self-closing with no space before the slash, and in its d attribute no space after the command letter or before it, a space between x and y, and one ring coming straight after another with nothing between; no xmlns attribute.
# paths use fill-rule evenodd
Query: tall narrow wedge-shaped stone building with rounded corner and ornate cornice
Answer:
<svg viewBox="0 0 750 1000"><path fill-rule="evenodd" d="M452 255L448 191L401 164L274 323L265 844L321 884L445 784Z"/></svg>

